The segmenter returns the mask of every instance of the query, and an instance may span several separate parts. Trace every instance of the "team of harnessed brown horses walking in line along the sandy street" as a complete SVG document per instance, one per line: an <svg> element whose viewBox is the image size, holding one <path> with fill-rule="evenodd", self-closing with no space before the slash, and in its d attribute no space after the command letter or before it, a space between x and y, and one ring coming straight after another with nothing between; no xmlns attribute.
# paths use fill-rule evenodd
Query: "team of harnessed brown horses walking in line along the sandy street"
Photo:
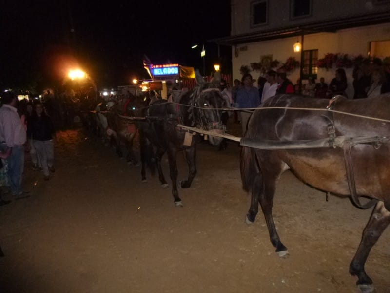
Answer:
<svg viewBox="0 0 390 293"><path fill-rule="evenodd" d="M196 143L202 140L197 132L182 126L209 131L212 145L222 141L212 134L224 133L220 115L228 105L217 89L218 80L214 82L206 83L197 75L197 86L179 95L174 103L160 100L146 105L143 99L134 98L125 110L127 117L111 118L116 121L114 125L121 125L117 129L122 129L114 137L128 139L130 146L138 130L143 181L146 166L155 163L162 187L168 187L161 168L161 158L167 153L176 206L182 206L176 183L176 153L185 154L189 174L180 187L189 188L196 174ZM389 94L360 100L338 96L331 103L301 95L278 95L267 100L252 114L241 139L241 180L243 189L251 194L246 222L254 222L260 205L277 254L288 255L272 215L277 181L288 169L314 188L350 197L358 208L374 206L350 264L358 288L364 293L374 292L364 266L372 246L390 223L389 124ZM369 201L362 204L362 197Z"/></svg>

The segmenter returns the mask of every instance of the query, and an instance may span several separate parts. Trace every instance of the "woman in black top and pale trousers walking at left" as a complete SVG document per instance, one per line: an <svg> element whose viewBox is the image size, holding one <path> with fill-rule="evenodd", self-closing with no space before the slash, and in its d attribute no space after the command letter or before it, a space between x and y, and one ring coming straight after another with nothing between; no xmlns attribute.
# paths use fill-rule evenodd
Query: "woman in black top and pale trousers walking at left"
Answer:
<svg viewBox="0 0 390 293"><path fill-rule="evenodd" d="M49 171L54 173L54 133L53 123L44 112L43 105L35 104L35 112L27 123L27 139L32 140L37 151L45 180L49 180Z"/></svg>

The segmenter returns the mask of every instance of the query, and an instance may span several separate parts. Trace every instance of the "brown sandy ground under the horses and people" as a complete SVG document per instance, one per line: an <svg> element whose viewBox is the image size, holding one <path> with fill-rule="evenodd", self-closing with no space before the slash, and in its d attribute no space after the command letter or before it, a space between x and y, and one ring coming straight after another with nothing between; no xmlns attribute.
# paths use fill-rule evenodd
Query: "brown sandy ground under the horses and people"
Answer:
<svg viewBox="0 0 390 293"><path fill-rule="evenodd" d="M184 179L182 154L178 163ZM244 222L239 147L201 143L197 167L177 208L157 177L141 183L139 167L99 139L59 132L53 177L27 158L30 198L0 207L0 292L357 292L348 267L370 210L326 202L286 172L273 213L291 255L280 259L262 214ZM378 293L390 292L389 240L387 230L366 265Z"/></svg>

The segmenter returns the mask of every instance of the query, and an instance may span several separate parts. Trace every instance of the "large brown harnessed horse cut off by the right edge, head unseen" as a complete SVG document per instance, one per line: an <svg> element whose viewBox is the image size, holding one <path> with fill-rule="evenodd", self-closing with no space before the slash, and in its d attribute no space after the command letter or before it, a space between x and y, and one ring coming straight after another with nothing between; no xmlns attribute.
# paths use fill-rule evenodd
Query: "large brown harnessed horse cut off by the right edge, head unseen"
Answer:
<svg viewBox="0 0 390 293"><path fill-rule="evenodd" d="M375 205L349 268L358 288L373 292L364 265L390 223L390 94L329 101L278 95L254 111L241 139L241 181L252 195L246 222L254 222L260 204L271 243L279 256L288 255L272 215L277 181L288 169L309 186L350 197L358 208ZM360 197L370 201L363 205Z"/></svg>

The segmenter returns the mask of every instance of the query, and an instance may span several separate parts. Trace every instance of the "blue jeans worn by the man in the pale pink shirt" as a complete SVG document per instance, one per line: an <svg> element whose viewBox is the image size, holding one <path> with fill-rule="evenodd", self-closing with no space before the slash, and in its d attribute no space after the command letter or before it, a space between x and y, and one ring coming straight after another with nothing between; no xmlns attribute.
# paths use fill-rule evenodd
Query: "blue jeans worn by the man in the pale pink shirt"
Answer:
<svg viewBox="0 0 390 293"><path fill-rule="evenodd" d="M18 196L23 193L21 180L24 169L24 146L15 145L12 147L11 155L7 158L8 180L11 193Z"/></svg>

